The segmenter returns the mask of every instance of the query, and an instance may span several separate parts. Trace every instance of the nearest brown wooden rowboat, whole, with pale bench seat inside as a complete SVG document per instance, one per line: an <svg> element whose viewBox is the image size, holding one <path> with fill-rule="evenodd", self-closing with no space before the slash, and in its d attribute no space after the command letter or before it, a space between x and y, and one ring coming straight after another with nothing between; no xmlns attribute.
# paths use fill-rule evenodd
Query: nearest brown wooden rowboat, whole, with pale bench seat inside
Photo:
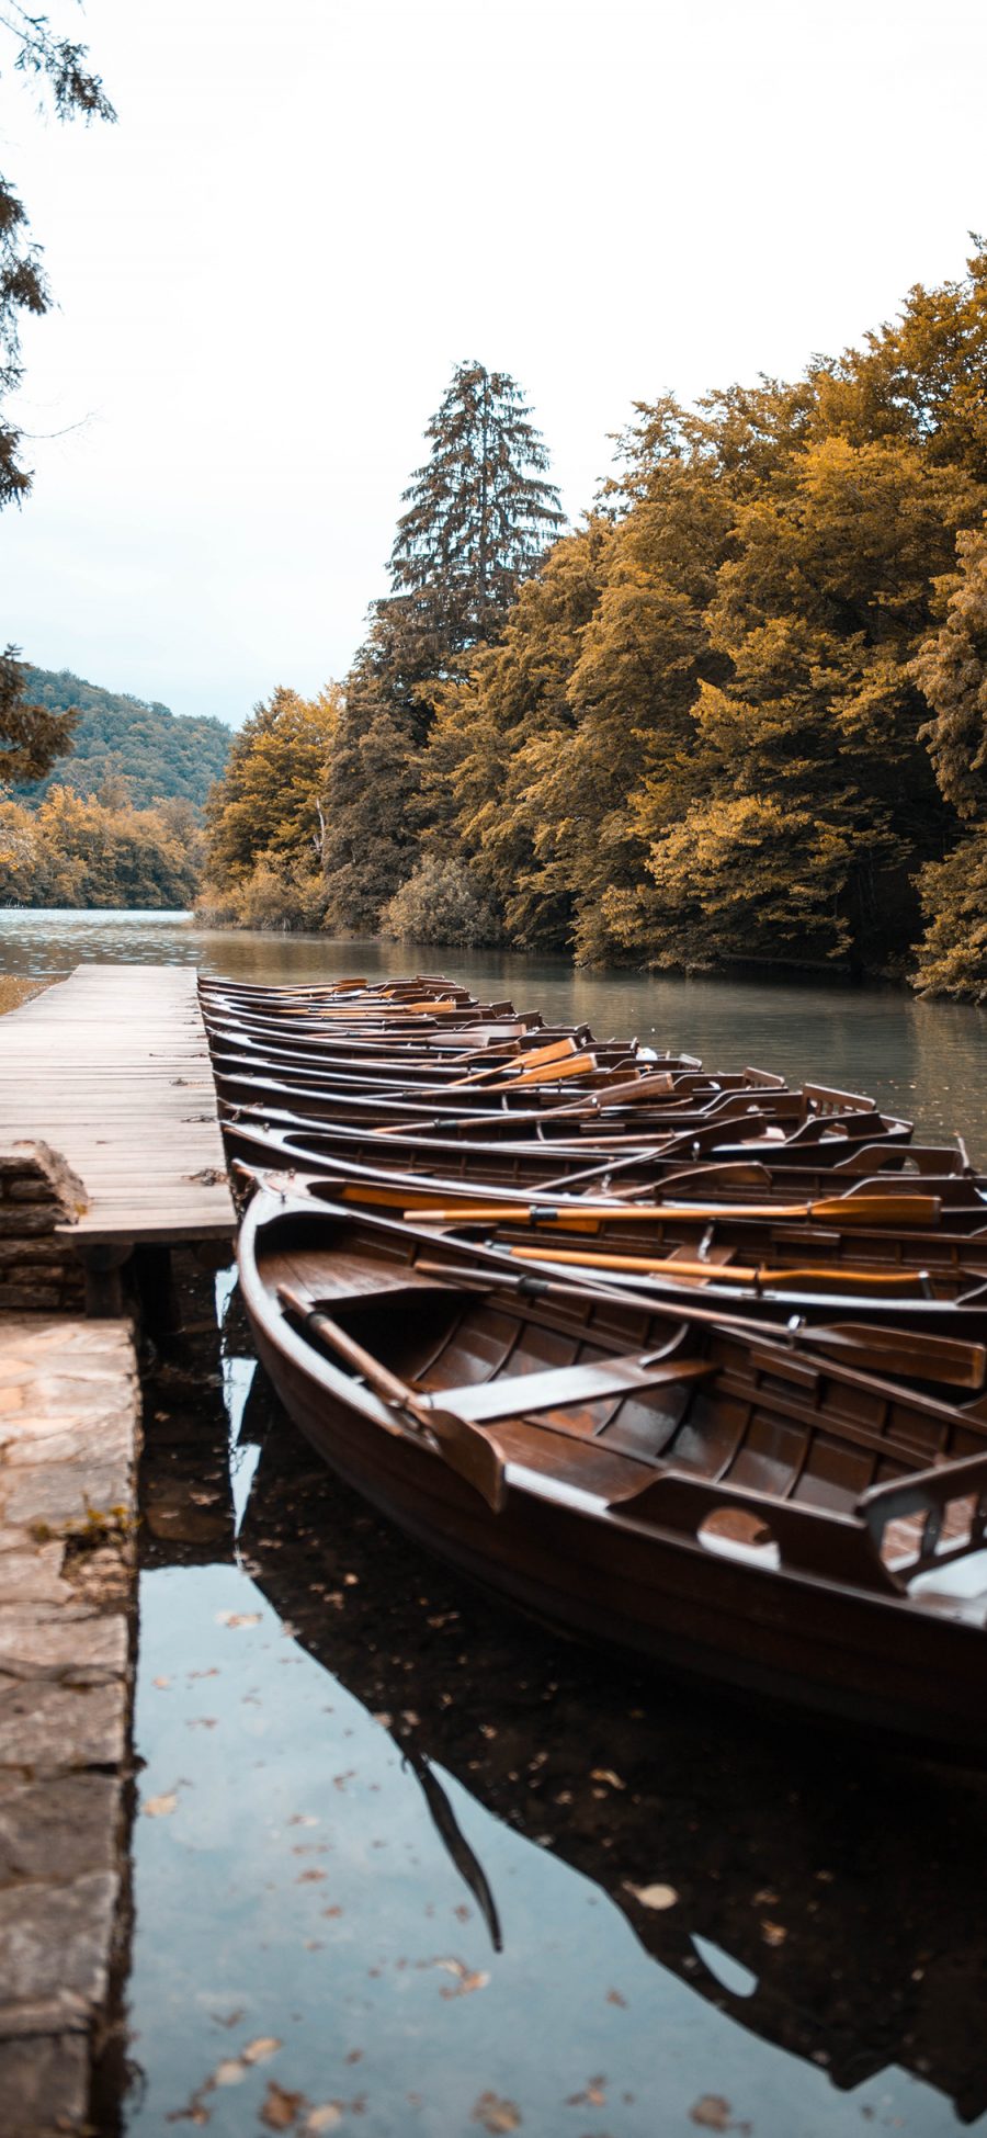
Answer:
<svg viewBox="0 0 987 2138"><path fill-rule="evenodd" d="M656 1663L987 1753L987 1420L312 1197L239 1236L256 1347L327 1460L508 1599ZM855 1364L857 1362L857 1364Z"/></svg>

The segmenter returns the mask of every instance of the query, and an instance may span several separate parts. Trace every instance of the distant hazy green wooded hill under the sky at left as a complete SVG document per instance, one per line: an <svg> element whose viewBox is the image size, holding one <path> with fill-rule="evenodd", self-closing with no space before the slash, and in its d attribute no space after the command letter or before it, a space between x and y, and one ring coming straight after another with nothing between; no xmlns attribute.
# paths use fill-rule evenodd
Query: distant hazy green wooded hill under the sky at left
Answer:
<svg viewBox="0 0 987 2138"><path fill-rule="evenodd" d="M224 721L145 706L139 697L100 691L68 669L28 667L28 701L49 712L81 706L68 757L60 757L45 780L15 787L17 800L28 806L41 802L49 787L92 795L107 778L124 778L137 808L175 795L201 808L226 768L233 735Z"/></svg>

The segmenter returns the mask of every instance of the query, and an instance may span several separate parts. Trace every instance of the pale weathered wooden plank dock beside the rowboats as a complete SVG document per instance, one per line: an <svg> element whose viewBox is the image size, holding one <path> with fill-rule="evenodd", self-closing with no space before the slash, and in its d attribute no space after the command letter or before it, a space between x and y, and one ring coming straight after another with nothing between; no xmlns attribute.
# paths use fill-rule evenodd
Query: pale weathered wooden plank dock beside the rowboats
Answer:
<svg viewBox="0 0 987 2138"><path fill-rule="evenodd" d="M81 964L0 1018L0 1140L21 1137L83 1180L79 1249L233 1238L197 969Z"/></svg>

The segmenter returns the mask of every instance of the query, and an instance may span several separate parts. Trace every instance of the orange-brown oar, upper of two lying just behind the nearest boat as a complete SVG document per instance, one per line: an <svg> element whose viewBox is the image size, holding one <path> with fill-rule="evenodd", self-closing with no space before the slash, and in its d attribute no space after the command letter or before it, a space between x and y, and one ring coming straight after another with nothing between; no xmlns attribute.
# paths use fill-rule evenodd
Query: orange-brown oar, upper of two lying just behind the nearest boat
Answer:
<svg viewBox="0 0 987 2138"><path fill-rule="evenodd" d="M647 1152L643 1152L641 1163L647 1163ZM829 1195L822 1202L803 1204L690 1204L690 1202L654 1202L654 1204L519 1204L511 1212L513 1223L530 1223L558 1227L560 1231L590 1231L594 1225L605 1223L611 1217L620 1217L624 1223L647 1225L654 1219L667 1217L694 1217L703 1223L716 1223L718 1219L765 1219L771 1225L788 1223L790 1219L814 1219L822 1225L938 1225L942 1214L942 1202L938 1195ZM494 1225L504 1217L502 1204L442 1204L429 1210L417 1210L417 1219L434 1225Z"/></svg>

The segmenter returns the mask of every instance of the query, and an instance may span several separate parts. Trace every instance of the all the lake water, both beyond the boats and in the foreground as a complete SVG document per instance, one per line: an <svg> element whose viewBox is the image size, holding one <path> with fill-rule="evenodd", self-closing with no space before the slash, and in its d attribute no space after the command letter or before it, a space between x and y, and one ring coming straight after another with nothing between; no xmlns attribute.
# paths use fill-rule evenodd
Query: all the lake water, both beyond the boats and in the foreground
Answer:
<svg viewBox="0 0 987 2138"><path fill-rule="evenodd" d="M444 962L600 1035L874 1090L987 1163L976 1011L0 915L0 971L83 958ZM233 1281L188 1283L186 1355L145 1390L124 2129L987 2134L987 1785L474 1597L278 1413Z"/></svg>

